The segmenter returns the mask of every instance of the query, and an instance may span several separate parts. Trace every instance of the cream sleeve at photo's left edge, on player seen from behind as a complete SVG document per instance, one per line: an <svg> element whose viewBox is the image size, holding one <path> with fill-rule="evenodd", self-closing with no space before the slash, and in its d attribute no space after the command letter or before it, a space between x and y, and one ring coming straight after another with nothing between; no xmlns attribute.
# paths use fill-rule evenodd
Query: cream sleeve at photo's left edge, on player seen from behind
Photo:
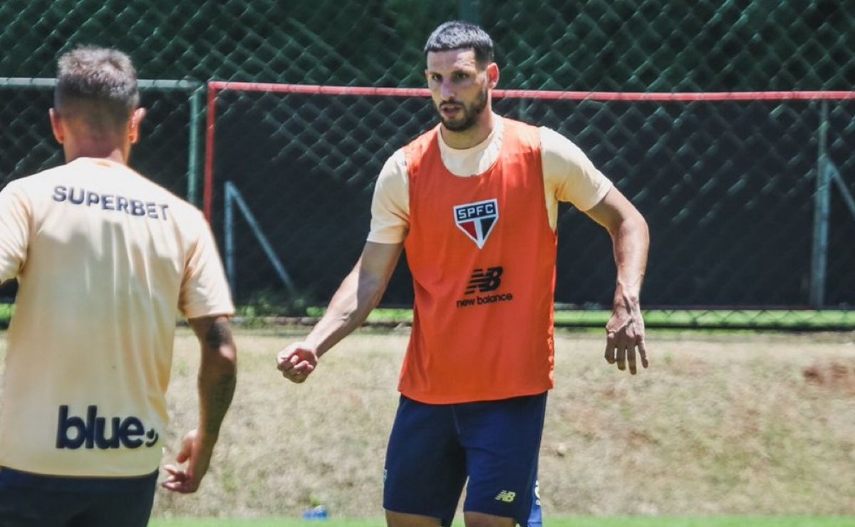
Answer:
<svg viewBox="0 0 855 527"><path fill-rule="evenodd" d="M0 191L0 283L16 278L27 261L32 208L15 182Z"/></svg>

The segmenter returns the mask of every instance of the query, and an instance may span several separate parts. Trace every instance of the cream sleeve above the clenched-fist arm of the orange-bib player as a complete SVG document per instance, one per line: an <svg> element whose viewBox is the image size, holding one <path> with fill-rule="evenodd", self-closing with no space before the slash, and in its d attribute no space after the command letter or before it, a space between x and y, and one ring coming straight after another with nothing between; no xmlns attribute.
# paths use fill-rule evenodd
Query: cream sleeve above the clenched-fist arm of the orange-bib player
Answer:
<svg viewBox="0 0 855 527"><path fill-rule="evenodd" d="M371 201L371 231L368 241L401 243L410 231L410 189L404 149L386 160Z"/></svg>

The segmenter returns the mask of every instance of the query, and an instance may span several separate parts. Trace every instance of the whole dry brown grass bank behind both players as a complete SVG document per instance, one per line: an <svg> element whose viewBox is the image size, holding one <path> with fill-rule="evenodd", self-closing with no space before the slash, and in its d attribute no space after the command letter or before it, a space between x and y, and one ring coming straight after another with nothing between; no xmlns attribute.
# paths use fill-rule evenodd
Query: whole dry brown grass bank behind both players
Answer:
<svg viewBox="0 0 855 527"><path fill-rule="evenodd" d="M295 516L323 503L337 517L380 516L407 331L349 337L304 385L273 360L299 337L239 332L214 466L198 495L159 493L156 514ZM651 369L635 378L605 364L603 342L557 336L540 466L548 514L855 514L855 336L652 331ZM168 449L195 425L197 365L195 338L180 331Z"/></svg>

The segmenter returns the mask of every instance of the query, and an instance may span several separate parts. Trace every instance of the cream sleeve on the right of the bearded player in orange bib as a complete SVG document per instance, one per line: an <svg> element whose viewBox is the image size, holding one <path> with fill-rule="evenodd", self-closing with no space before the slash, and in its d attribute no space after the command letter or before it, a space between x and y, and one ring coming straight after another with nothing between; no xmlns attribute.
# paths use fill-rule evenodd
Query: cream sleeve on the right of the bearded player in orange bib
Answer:
<svg viewBox="0 0 855 527"><path fill-rule="evenodd" d="M559 202L571 202L581 211L602 201L612 187L587 155L558 132L540 127L540 149L543 158L547 192L554 192Z"/></svg>

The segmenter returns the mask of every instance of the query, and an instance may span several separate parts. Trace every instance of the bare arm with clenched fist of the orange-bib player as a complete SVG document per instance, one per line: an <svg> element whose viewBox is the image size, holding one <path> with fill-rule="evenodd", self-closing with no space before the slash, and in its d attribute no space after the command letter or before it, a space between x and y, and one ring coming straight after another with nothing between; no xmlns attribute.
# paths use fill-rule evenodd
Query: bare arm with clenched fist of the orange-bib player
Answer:
<svg viewBox="0 0 855 527"><path fill-rule="evenodd" d="M309 336L276 355L276 366L285 378L304 382L322 354L363 324L386 291L403 246L403 243L365 243L357 265L339 285L327 313Z"/></svg>

